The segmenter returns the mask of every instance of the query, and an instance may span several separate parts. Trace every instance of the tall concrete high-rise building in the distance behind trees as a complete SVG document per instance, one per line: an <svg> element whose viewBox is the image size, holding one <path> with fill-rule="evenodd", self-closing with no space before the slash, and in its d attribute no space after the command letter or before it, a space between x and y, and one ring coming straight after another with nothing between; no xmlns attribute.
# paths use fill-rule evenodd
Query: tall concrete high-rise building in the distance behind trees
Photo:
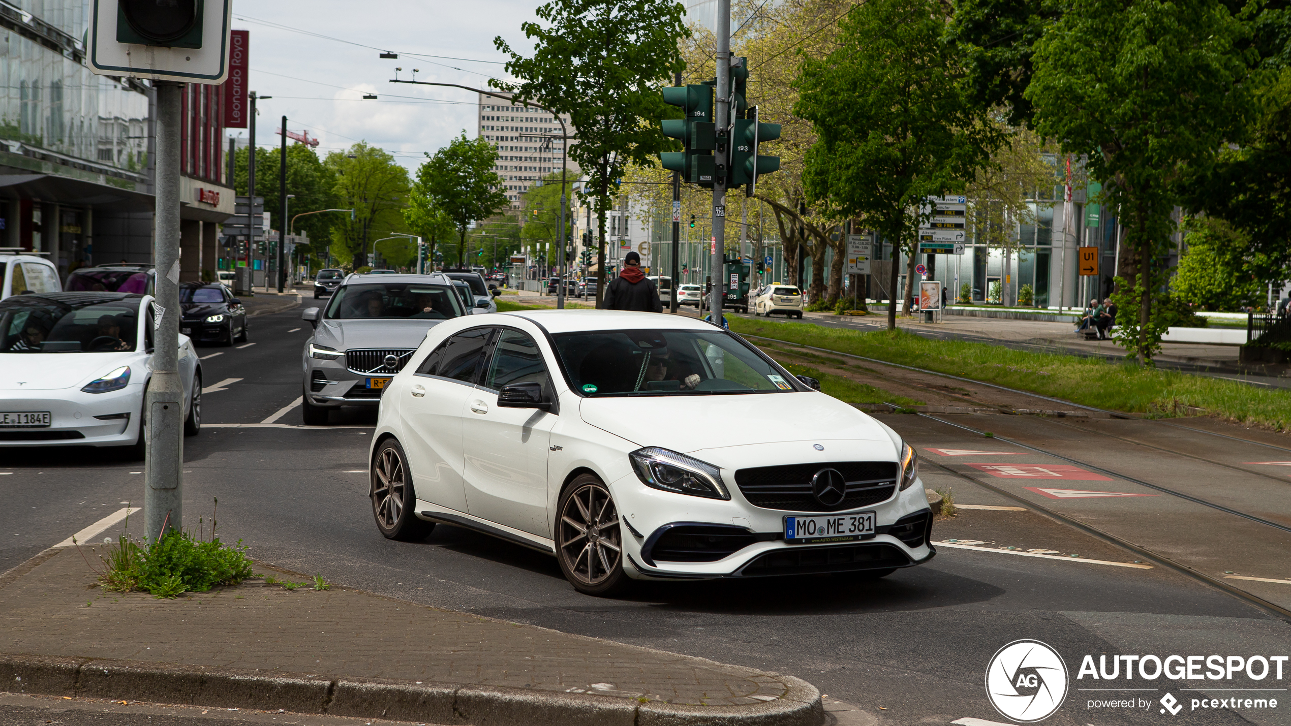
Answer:
<svg viewBox="0 0 1291 726"><path fill-rule="evenodd" d="M573 126L565 116L565 130ZM524 209L524 192L542 177L560 172L569 142L560 138L560 121L541 108L511 103L507 98L479 94L478 133L497 147L494 170L506 181L513 210ZM569 162L569 179L578 168Z"/></svg>

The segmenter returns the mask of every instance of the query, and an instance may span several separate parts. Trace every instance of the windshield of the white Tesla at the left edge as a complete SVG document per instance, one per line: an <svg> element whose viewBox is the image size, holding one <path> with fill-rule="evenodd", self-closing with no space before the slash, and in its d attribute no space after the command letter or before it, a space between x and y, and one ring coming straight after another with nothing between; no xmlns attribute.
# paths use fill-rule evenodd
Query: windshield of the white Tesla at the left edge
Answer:
<svg viewBox="0 0 1291 726"><path fill-rule="evenodd" d="M138 300L68 304L35 297L0 302L0 352L106 353L133 351Z"/></svg>

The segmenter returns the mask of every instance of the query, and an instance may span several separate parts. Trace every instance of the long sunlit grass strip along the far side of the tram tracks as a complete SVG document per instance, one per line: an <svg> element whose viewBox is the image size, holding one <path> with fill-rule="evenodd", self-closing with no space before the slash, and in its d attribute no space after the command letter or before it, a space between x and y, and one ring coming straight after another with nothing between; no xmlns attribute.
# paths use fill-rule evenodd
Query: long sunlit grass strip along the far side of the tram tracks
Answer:
<svg viewBox="0 0 1291 726"><path fill-rule="evenodd" d="M733 316L728 320L736 333L962 375L1086 406L1162 418L1183 415L1194 406L1211 415L1276 431L1285 431L1291 423L1291 392L1278 388L1139 368L1130 361L1113 364L988 343L931 340L900 330L862 333L809 322Z"/></svg>

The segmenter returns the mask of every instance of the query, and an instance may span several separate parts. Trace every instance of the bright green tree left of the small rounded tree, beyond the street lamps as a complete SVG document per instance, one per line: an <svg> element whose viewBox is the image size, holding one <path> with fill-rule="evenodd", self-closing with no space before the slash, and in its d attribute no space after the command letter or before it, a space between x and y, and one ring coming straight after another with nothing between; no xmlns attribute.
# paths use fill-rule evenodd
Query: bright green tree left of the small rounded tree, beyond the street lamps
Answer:
<svg viewBox="0 0 1291 726"><path fill-rule="evenodd" d="M394 155L367 142L328 153L324 164L336 174L336 206L354 208L354 219L343 214L333 219L332 254L351 270L367 267L374 240L407 231L408 170Z"/></svg>

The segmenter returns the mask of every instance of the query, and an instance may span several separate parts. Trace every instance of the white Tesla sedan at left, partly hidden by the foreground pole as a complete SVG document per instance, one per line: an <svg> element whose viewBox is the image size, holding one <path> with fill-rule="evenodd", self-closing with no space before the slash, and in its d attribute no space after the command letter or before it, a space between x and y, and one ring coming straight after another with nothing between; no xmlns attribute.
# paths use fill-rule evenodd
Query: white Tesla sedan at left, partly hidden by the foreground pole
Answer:
<svg viewBox="0 0 1291 726"><path fill-rule="evenodd" d="M132 446L143 458L151 295L44 293L0 300L0 447ZM183 432L201 427L201 364L179 335Z"/></svg>

